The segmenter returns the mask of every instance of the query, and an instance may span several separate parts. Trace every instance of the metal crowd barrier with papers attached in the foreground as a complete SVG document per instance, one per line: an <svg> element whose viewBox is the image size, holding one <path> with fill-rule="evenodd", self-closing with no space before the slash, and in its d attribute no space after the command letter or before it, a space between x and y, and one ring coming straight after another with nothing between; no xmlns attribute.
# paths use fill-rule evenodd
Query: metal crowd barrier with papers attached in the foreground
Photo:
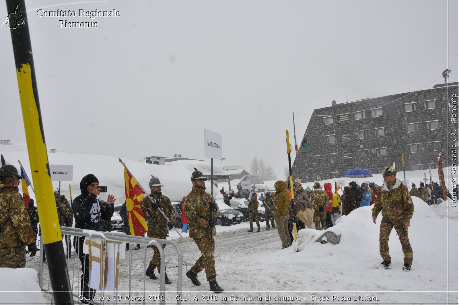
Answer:
<svg viewBox="0 0 459 305"><path fill-rule="evenodd" d="M181 304L181 296L182 296L182 269L183 269L183 255L182 255L182 250L180 249L179 245L175 243L174 241L171 240L166 240L166 239L157 239L157 238L150 238L150 237L140 237L140 236L132 236L132 235L126 235L123 232L100 232L100 231L92 231L92 230L83 230L83 229L78 229L78 228L72 228L72 227L66 227L62 226L61 227L61 234L68 235L69 238L70 236L75 236L75 237L80 237L80 238L85 238L85 237L90 237L90 240L93 237L97 238L103 238L108 241L115 241L115 242L124 242L124 243L130 243L129 244L129 299L126 300L125 298L115 298L110 296L110 302L105 302L105 286L102 285L102 290L101 290L101 296L99 296L97 299L101 299L101 302L96 302L96 301L90 301L92 304L117 304L118 301L120 301L121 304L130 304L131 303L131 292L132 292L132 259L133 259L133 244L141 244L144 245L144 272L143 272L143 304L146 304L146 301L159 301L159 304L165 304L166 302L166 278L165 278L165 273L166 272L161 272L160 273L160 284L159 284L159 294L155 299L149 299L146 297L146 266L147 266L147 248L149 248L150 245L155 246L160 254L160 259L161 259L161 270L165 270L165 260L164 260L164 250L162 249L162 244L165 245L171 245L177 250L177 255L178 255L178 264L177 264L177 291L175 294L175 300L177 301L176 304ZM40 241L41 245L43 244L43 241ZM74 243L74 242L73 242ZM39 261L39 286L43 292L50 293L50 284L48 283L48 288L43 287L43 248L40 245L40 261ZM67 246L68 247L68 246ZM73 245L75 248L75 245ZM78 251L83 251L83 249L79 249ZM71 259L67 260L67 272L70 267L72 267L72 274L69 273L71 283L72 283L72 291L73 291L73 296L76 297L77 299L74 300L75 303L79 302L79 297L80 297L80 275L83 273L80 270L80 260L77 259L78 253L75 251L73 254L73 261ZM101 260L102 264L103 260ZM75 269L77 271L76 277L75 277ZM89 275L88 275L89 276ZM116 272L113 274L114 280L116 279ZM77 285L75 287L75 279L77 279ZM118 277L118 283L122 282L122 278ZM89 283L90 285L90 283ZM119 290L119 289L118 289ZM118 292L116 292L118 294ZM52 296L52 294L51 294ZM51 297L52 298L52 297ZM121 302L123 301L124 302ZM51 299L51 303L53 300Z"/></svg>

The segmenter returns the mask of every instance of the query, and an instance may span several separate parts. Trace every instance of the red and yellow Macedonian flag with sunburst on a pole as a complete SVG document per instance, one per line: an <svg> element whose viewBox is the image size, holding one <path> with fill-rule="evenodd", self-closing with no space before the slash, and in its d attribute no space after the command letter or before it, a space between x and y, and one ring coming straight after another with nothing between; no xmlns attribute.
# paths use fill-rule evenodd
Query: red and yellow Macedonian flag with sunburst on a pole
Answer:
<svg viewBox="0 0 459 305"><path fill-rule="evenodd" d="M124 188L126 190L126 209L128 210L129 216L129 231L132 235L144 236L148 231L148 226L146 225L142 210L140 209L140 202L145 193L126 167L124 167Z"/></svg>

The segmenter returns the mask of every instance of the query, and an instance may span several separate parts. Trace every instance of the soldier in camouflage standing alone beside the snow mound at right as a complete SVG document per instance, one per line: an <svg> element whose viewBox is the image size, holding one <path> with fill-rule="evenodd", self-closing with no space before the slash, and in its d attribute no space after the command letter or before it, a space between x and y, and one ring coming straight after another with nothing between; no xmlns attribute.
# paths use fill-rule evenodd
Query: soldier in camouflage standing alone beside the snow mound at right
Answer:
<svg viewBox="0 0 459 305"><path fill-rule="evenodd" d="M395 163L391 167L384 169L384 185L381 186L379 197L376 198L375 206L372 209L371 216L376 223L376 216L382 210L382 220L379 233L379 252L384 260L381 265L388 268L391 265L391 256L389 255L389 236L392 228L395 228L400 243L402 244L404 265L403 270L409 271L413 263L413 250L409 244L408 227L409 220L413 216L414 205L411 196L402 181L395 178Z"/></svg>

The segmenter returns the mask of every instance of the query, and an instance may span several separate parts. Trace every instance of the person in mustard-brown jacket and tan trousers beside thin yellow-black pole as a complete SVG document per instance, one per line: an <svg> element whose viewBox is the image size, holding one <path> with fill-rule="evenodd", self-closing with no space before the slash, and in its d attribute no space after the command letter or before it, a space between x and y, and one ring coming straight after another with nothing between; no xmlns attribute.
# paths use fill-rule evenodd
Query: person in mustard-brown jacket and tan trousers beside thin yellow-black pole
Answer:
<svg viewBox="0 0 459 305"><path fill-rule="evenodd" d="M290 196L285 189L284 181L276 181L274 183L276 189L276 198L274 198L274 221L277 226L282 249L291 246L291 239L288 228L288 220L290 218Z"/></svg>

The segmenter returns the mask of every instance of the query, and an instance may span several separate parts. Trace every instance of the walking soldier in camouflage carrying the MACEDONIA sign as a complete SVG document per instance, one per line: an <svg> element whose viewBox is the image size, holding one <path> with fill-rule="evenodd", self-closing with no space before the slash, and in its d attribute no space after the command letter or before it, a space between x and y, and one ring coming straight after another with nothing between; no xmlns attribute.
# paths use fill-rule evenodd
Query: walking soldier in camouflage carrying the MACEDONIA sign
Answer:
<svg viewBox="0 0 459 305"><path fill-rule="evenodd" d="M206 270L207 281L209 282L210 290L216 293L223 292L217 281L217 272L215 271L215 260L213 252L215 250L215 224L212 220L218 217L218 205L212 200L210 194L206 193L205 182L207 178L202 175L202 172L195 170L191 174L191 183L193 187L191 192L186 196L183 202L183 212L188 221L190 221L189 232L190 238L193 238L199 250L201 257L196 261L195 265L186 272L186 276L196 286L201 285L197 278L197 274Z"/></svg>

